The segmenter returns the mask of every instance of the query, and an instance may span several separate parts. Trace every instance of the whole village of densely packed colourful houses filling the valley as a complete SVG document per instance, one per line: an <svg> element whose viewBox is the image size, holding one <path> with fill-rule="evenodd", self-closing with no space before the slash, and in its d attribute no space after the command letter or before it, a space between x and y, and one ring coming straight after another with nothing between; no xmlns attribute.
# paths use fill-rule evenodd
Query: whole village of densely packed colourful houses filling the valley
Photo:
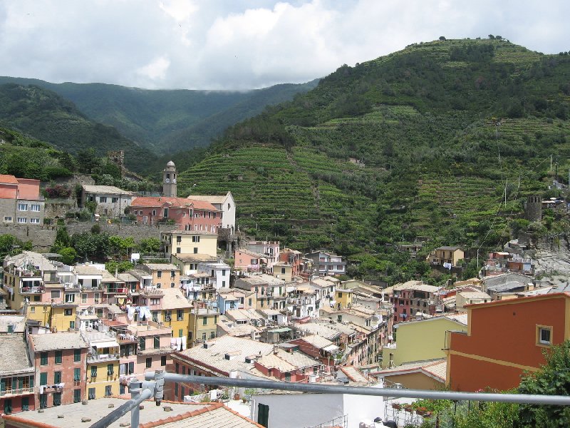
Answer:
<svg viewBox="0 0 570 428"><path fill-rule="evenodd" d="M43 225L39 186L0 175L4 225L32 234ZM130 398L131 382L155 370L504 391L517 387L523 372L539 370L544 350L570 339L569 283L546 275L554 269L544 270L527 239L485 255L477 277L445 287L422 280L386 287L347 280L348 261L326 249L301 253L278 241L244 239L232 193L179 197L172 161L160 196L83 185L81 201L96 203L95 223L127 209L136 225L160 224L155 238L165 263L130 253L134 267L113 272L92 261L66 265L57 253L24 250L4 258L0 412L6 427L36 427L58 417L76 426L88 422L81 415L95 422ZM527 215L539 219L548 204L554 202L529 198ZM415 257L420 246L400 250ZM464 257L461 248L442 246L426 261L454 272ZM432 417L413 400L379 405L371 397L183 382L165 384L164 397L192 427L201 426L201 417L216 418L216 426L344 428L372 427L375 419L419 425ZM177 403L192 404L197 413ZM145 412L147 422L160 419Z"/></svg>

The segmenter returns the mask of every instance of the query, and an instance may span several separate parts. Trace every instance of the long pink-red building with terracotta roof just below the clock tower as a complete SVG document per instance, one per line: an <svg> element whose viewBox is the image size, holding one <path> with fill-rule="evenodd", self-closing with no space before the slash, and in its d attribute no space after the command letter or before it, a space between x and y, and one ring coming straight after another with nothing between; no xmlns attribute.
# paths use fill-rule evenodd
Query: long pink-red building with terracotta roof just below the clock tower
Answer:
<svg viewBox="0 0 570 428"><path fill-rule="evenodd" d="M152 196L135 198L131 212L142 224L154 225L172 220L178 230L200 230L217 233L222 227L222 212L202 200Z"/></svg>

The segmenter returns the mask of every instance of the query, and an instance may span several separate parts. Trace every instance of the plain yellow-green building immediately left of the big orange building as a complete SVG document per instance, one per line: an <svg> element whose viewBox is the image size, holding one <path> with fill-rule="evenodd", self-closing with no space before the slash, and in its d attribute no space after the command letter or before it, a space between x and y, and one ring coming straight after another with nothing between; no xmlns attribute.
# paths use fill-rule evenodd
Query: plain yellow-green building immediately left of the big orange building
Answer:
<svg viewBox="0 0 570 428"><path fill-rule="evenodd" d="M467 332L467 314L450 314L395 326L396 342L382 350L382 367L445 358L445 332Z"/></svg>

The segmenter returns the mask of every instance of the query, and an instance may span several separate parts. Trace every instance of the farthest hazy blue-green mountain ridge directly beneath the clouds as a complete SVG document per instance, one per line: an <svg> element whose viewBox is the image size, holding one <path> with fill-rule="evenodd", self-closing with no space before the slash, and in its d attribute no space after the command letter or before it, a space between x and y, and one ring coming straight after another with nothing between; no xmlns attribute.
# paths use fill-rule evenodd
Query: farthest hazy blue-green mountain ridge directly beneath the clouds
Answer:
<svg viewBox="0 0 570 428"><path fill-rule="evenodd" d="M157 155L207 146L225 128L255 116L267 105L291 100L318 80L255 91L156 90L103 83L49 83L0 77L0 83L40 86L58 93L93 121L114 126Z"/></svg>

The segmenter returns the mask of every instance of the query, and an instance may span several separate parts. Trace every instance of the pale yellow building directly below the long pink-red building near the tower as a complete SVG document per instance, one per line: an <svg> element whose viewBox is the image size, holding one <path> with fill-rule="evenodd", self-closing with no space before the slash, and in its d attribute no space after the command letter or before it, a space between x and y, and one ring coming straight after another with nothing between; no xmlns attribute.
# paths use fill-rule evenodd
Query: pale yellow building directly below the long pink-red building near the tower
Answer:
<svg viewBox="0 0 570 428"><path fill-rule="evenodd" d="M217 233L175 230L160 233L167 255L200 254L217 257Z"/></svg>

